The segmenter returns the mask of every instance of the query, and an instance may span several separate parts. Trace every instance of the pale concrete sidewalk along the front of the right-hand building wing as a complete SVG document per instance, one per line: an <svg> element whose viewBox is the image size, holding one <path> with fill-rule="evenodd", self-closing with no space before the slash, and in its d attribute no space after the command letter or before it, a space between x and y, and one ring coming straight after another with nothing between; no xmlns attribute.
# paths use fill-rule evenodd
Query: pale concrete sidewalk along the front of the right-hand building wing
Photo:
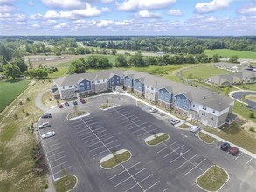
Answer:
<svg viewBox="0 0 256 192"><path fill-rule="evenodd" d="M129 93L124 93L124 94L122 94L122 95L127 95L127 96L129 96L129 97L131 97L131 98L134 98L136 101L140 101L140 102L142 102L142 103L144 103L144 104L146 104L146 105L148 105L148 106L151 106L151 107L155 107L155 108L156 108L156 106L150 105L150 104L147 103L146 101L143 101L142 99L138 99L138 98L136 98L135 96L133 96L133 95L131 95L131 94L129 94ZM158 109L158 110L159 110L161 113L164 113L164 114L170 116L171 118L175 118L175 119L177 119L177 120L181 120L181 119L177 118L176 116L174 116L174 115L172 115L172 114L170 114L170 113L167 113L167 112L163 111L162 109ZM181 120L181 121L183 121L183 120ZM188 126L192 126L190 123L185 123L185 124L188 125ZM227 141L225 141L224 139L218 137L218 136L215 135L215 134L211 134L211 133L206 132L206 131L204 131L204 130L201 130L201 132L204 133L204 134L207 134L207 135L209 135L209 136L211 136L211 137L213 137L213 138L215 138L215 139L218 140L218 141L227 142ZM233 144L233 143L231 143L231 142L229 142L229 143L230 143L233 147L238 147L237 145L235 145L235 144ZM244 148L242 148L242 147L238 147L238 148L239 148L239 151L243 152L244 154L248 154L249 156L252 156L254 159L256 159L256 154L253 154L253 153L247 151L246 149L244 149Z"/></svg>

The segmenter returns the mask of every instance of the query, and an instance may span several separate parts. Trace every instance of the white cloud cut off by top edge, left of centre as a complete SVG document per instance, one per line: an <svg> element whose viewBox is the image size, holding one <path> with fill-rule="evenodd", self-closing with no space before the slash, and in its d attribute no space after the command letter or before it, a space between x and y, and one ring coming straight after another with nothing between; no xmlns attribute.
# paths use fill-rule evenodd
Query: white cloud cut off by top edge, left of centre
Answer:
<svg viewBox="0 0 256 192"><path fill-rule="evenodd" d="M82 8L86 3L81 0L42 0L45 5L54 8Z"/></svg>

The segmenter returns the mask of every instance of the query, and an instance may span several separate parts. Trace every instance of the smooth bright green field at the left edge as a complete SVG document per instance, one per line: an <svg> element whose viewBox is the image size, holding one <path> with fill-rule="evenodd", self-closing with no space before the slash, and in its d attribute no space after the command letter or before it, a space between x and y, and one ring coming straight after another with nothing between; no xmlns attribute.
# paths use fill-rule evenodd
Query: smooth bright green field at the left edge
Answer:
<svg viewBox="0 0 256 192"><path fill-rule="evenodd" d="M0 112L28 87L27 80L0 81Z"/></svg>

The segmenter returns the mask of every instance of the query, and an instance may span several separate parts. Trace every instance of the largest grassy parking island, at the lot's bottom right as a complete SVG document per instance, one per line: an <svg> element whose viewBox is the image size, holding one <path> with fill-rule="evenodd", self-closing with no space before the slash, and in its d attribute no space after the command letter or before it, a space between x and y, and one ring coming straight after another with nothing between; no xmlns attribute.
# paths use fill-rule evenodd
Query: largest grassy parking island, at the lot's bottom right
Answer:
<svg viewBox="0 0 256 192"><path fill-rule="evenodd" d="M203 175L200 175L196 182L199 188L205 191L218 191L228 180L228 173L223 168L213 165Z"/></svg>

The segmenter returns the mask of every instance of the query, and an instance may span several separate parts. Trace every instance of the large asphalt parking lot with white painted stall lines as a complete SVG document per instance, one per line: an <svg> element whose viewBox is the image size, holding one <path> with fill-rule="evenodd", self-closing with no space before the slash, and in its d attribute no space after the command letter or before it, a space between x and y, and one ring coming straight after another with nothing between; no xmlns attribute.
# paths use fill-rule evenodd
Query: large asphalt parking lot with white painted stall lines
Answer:
<svg viewBox="0 0 256 192"><path fill-rule="evenodd" d="M106 97L79 105L91 113L88 117L67 121L70 106L53 109L52 119L40 121L52 124L40 129L40 134L56 132L42 140L52 179L76 175L79 184L74 191L202 191L195 180L218 164L230 174L230 182L221 191L254 191L256 161L249 155L227 154L219 150L219 141L207 145L195 134L161 120L164 115L142 110L126 97L109 99L121 106L101 111L98 106ZM170 139L147 146L144 139L159 132ZM183 140L182 134L187 138ZM101 158L120 149L129 150L131 159L111 170L100 168Z"/></svg>

